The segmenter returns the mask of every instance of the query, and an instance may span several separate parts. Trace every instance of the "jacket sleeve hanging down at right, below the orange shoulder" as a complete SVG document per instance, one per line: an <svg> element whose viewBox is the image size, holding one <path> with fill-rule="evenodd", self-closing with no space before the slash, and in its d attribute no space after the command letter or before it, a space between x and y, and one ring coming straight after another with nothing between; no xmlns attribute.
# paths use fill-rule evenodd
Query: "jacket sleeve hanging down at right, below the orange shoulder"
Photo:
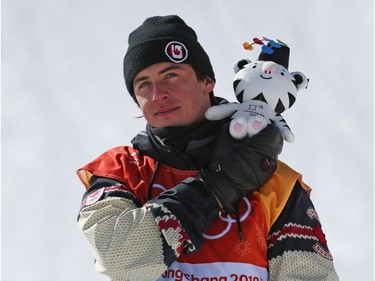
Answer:
<svg viewBox="0 0 375 281"><path fill-rule="evenodd" d="M309 195L297 181L268 237L269 280L339 280Z"/></svg>

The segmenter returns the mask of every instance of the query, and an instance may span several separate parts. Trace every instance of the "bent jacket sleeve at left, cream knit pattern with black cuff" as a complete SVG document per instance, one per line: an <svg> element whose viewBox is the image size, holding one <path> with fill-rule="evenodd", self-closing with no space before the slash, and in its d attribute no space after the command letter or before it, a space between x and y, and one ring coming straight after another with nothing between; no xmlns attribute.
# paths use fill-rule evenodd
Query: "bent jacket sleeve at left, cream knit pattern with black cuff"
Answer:
<svg viewBox="0 0 375 281"><path fill-rule="evenodd" d="M182 252L198 249L218 213L215 198L199 188L180 183L141 205L124 184L94 179L83 196L78 225L96 270L113 281L156 280Z"/></svg>

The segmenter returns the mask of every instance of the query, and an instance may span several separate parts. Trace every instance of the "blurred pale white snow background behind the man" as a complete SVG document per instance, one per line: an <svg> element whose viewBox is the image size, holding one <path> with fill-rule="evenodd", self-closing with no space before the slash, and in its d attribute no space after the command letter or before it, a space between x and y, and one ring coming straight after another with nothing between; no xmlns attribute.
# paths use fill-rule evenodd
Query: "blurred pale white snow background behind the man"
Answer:
<svg viewBox="0 0 375 281"><path fill-rule="evenodd" d="M1 280L108 280L76 225L75 170L144 129L122 59L128 34L167 14L196 30L232 101L233 62L259 51L242 43L289 44L310 85L284 114L296 141L280 159L313 187L340 279L373 280L372 0L3 0L1 12Z"/></svg>

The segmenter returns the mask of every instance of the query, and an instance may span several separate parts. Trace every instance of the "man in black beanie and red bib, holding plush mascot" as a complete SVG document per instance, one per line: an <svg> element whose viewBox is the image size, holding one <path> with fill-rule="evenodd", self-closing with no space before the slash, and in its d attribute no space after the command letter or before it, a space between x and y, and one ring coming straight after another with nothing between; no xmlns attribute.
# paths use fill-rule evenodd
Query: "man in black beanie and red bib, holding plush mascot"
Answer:
<svg viewBox="0 0 375 281"><path fill-rule="evenodd" d="M338 280L301 175L269 125L235 141L207 121L215 76L193 29L151 17L129 36L127 89L146 131L78 170L78 223L112 280Z"/></svg>

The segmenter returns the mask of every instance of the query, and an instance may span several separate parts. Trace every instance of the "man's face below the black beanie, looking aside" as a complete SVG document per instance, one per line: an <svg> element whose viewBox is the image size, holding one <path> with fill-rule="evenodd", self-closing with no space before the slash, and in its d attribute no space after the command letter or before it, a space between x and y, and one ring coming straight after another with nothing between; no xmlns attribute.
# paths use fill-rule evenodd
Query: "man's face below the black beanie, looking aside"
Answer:
<svg viewBox="0 0 375 281"><path fill-rule="evenodd" d="M162 62L139 72L134 93L146 121L155 128L204 120L214 81L198 81L189 64Z"/></svg>

